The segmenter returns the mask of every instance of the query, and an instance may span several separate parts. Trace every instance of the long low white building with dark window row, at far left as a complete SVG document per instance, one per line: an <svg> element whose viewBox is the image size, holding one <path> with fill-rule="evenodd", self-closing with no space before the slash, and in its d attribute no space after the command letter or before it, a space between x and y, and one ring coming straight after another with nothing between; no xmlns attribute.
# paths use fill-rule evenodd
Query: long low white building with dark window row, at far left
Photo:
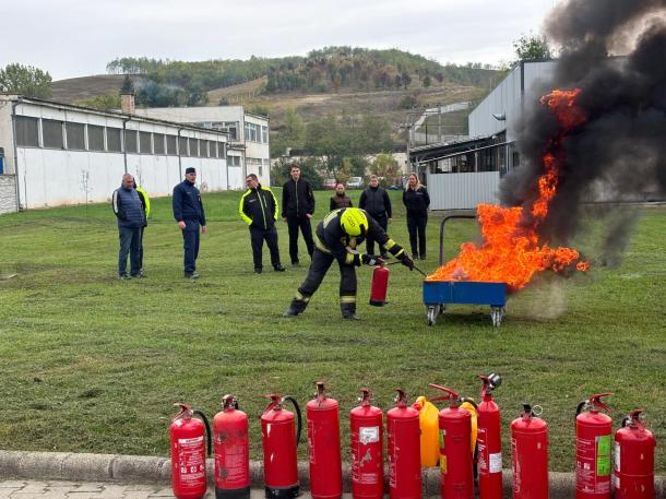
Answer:
<svg viewBox="0 0 666 499"><path fill-rule="evenodd" d="M104 202L132 174L168 195L187 167L202 191L229 188L228 133L19 95L0 95L0 213Z"/></svg>

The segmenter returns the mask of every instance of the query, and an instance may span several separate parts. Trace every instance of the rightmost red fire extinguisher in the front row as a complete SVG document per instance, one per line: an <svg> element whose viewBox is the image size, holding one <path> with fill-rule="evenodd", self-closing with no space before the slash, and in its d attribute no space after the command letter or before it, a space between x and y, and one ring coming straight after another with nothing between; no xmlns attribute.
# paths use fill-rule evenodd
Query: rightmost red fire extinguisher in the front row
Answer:
<svg viewBox="0 0 666 499"><path fill-rule="evenodd" d="M632 411L615 433L615 499L654 499L654 448L652 432Z"/></svg>

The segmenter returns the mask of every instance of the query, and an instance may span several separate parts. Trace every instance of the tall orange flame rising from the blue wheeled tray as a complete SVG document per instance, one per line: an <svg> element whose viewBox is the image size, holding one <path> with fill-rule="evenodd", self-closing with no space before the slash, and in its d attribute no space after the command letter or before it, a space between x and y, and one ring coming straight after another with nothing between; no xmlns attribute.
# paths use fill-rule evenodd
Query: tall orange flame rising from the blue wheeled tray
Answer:
<svg viewBox="0 0 666 499"><path fill-rule="evenodd" d="M428 281L480 281L507 283L511 290L524 287L537 272L561 272L572 264L578 271L590 269L580 261L579 252L571 248L550 248L539 241L538 226L547 218L550 202L557 193L561 152L559 144L571 128L586 120L584 111L575 105L580 88L556 90L544 95L561 126L560 134L548 143L543 156L544 174L538 178L538 198L532 205L501 207L493 204L477 206L478 222L484 242L480 246L465 242L456 258L440 266ZM524 216L523 210L531 216Z"/></svg>

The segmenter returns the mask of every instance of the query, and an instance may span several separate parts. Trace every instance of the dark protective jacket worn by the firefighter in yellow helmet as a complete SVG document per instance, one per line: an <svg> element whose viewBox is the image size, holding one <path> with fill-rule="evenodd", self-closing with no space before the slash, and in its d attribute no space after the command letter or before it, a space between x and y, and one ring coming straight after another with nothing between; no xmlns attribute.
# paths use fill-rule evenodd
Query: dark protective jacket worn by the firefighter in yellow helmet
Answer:
<svg viewBox="0 0 666 499"><path fill-rule="evenodd" d="M314 230L314 246L318 250L332 254L342 263L360 265L361 258L357 248L366 240L368 235L371 235L372 239L386 248L396 259L403 259L405 256L403 247L391 239L381 225L365 211L368 218L368 233L360 236L349 236L345 233L341 223L342 214L345 210L344 207L334 210L319 223Z"/></svg>

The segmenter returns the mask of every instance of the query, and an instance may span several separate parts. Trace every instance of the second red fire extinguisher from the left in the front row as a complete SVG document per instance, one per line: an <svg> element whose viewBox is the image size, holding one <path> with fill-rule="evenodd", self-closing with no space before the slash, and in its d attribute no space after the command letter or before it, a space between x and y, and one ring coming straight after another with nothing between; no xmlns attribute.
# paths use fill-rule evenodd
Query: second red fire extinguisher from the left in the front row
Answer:
<svg viewBox="0 0 666 499"><path fill-rule="evenodd" d="M215 498L250 497L250 444L248 416L234 395L222 397L222 411L213 418L215 445Z"/></svg>

